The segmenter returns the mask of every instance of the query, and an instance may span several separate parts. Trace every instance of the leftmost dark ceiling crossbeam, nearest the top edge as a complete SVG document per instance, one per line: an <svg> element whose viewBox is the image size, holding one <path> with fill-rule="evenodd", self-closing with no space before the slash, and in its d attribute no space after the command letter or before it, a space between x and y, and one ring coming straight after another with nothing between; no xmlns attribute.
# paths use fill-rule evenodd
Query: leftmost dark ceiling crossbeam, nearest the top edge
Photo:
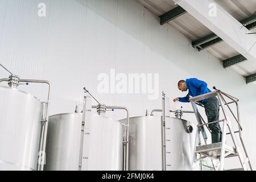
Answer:
<svg viewBox="0 0 256 182"><path fill-rule="evenodd" d="M160 18L160 24L166 24L168 22L171 22L171 20L174 20L175 18L187 13L182 7L177 6L174 9L168 11L167 13L164 13L161 15Z"/></svg>

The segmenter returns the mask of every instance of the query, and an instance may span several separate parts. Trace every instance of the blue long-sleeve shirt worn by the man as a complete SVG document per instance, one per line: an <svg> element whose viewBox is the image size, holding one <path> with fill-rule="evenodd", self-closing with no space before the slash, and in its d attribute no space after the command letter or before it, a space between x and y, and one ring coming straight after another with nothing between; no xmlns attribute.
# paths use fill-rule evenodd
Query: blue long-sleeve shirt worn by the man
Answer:
<svg viewBox="0 0 256 182"><path fill-rule="evenodd" d="M179 97L180 102L190 102L189 96L195 97L201 94L212 92L207 87L207 83L201 80L197 80L197 78L188 78L186 79L186 83L188 86L188 94L186 97ZM200 101L202 104L205 104L207 99Z"/></svg>

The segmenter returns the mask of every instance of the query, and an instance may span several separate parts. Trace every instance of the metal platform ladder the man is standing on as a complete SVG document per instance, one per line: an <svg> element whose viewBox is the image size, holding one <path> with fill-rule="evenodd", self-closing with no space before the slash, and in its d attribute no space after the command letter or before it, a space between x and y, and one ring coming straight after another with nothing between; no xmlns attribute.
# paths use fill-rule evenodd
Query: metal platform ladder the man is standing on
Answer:
<svg viewBox="0 0 256 182"><path fill-rule="evenodd" d="M224 160L225 158L231 158L231 157L236 157L238 156L242 168L238 169L230 169L230 170L253 170L251 167L251 163L249 160L249 157L247 155L245 145L242 140L242 127L240 125L240 114L239 114L239 108L238 108L238 99L230 96L229 94L226 94L224 92L221 92L221 90L216 89L213 87L214 91L206 94L202 94L200 96L192 97L189 100L191 101L192 107L195 111L196 114L196 119L199 123L197 125L197 131L196 131L196 142L195 142L195 150L194 150L194 156L193 156L193 162L199 162L204 158L210 158L213 163L213 168L215 170L220 170L224 171ZM210 97L216 97L218 98L221 106L221 110L224 115L224 119L221 119L219 121L214 121L210 123L205 123L204 119L201 117L197 105L200 105L198 101L210 98ZM225 98L229 98L231 100L230 102L226 102ZM232 109L230 108L230 104L236 104L236 115L233 113ZM203 105L200 105L203 106ZM232 114L233 118L235 119L236 123L238 124L238 131L234 131L232 128L232 125L230 123L230 119L228 118L228 113L226 112L226 108L230 111ZM219 143L213 143L213 144L207 144L207 134L205 132L205 127L209 130L208 125L212 123L223 123L222 125L222 141ZM229 130L229 133L226 133L227 129ZM210 130L209 130L210 131ZM205 145L201 145L200 142L200 133L203 135ZM243 154L241 151L240 144L238 143L237 136L235 133L239 133L239 139L242 144L243 152L245 154L245 159L243 159ZM226 135L231 135L232 141L233 141L233 146L228 146L226 144ZM217 166L217 162L219 160L219 166ZM249 166L249 168L248 168Z"/></svg>

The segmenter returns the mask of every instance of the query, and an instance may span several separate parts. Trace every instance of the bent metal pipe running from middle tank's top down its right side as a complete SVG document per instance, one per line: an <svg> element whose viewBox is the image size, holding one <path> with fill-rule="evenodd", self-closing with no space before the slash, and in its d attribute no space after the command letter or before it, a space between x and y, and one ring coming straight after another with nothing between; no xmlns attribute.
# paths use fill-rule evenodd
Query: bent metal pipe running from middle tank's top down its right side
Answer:
<svg viewBox="0 0 256 182"><path fill-rule="evenodd" d="M97 106L92 106L92 108L97 108ZM127 121L126 121L126 140L125 140L125 159L124 159L124 169L125 171L128 171L128 164L129 164L129 118L130 118L130 114L129 114L129 109L127 107L124 106L106 106L106 109L122 109L122 110L126 110L126 117L127 117Z"/></svg>

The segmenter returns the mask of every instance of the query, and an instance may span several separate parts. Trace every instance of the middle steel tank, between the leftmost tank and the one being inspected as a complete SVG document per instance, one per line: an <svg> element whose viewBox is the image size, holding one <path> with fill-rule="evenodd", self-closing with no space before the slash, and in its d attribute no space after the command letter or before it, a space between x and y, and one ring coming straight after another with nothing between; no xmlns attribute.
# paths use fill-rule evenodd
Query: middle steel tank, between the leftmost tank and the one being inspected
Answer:
<svg viewBox="0 0 256 182"><path fill-rule="evenodd" d="M85 126L86 127L86 126ZM49 117L46 170L79 170L82 114L57 114ZM122 170L123 127L114 119L92 115L88 169Z"/></svg>

